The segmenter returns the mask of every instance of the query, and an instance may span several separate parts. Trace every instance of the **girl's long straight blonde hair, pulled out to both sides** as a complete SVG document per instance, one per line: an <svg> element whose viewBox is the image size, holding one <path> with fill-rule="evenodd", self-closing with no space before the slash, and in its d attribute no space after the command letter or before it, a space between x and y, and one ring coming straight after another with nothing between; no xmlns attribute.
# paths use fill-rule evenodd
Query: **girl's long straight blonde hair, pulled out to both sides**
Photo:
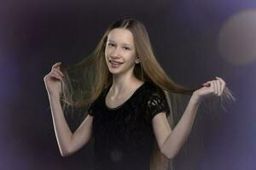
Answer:
<svg viewBox="0 0 256 170"><path fill-rule="evenodd" d="M102 93L102 90L112 83L113 77L108 71L104 50L106 48L108 33L114 28L125 28L131 31L137 56L140 57L141 61L139 65L135 65L134 75L143 82L153 82L156 86L160 87L165 92L170 107L173 107L170 103L172 100L170 99L170 96L173 96L171 94L191 95L196 89L201 88L185 88L176 82L173 82L155 58L148 37L148 31L143 23L125 17L114 21L108 27L107 31L103 34L102 39L96 46L96 49L90 56L84 58L78 64L61 66L61 71L65 74L61 94L61 101L63 102L64 109L67 106L87 106L86 108L88 108L88 106ZM171 115L168 117L168 121L172 127L174 127L175 124L174 113L175 111L171 111ZM169 169L170 161L171 160L160 153L159 147L157 146L156 141L154 141L150 169Z"/></svg>

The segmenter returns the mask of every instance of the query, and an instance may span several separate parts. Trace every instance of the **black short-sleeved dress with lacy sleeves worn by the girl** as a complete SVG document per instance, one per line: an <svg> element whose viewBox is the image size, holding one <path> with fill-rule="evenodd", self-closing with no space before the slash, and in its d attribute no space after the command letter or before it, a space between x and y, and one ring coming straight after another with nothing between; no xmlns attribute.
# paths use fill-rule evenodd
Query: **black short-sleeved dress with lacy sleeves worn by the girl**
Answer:
<svg viewBox="0 0 256 170"><path fill-rule="evenodd" d="M166 97L152 82L143 82L122 105L109 108L105 103L109 88L88 109L94 116L94 168L149 170L155 140L151 121L162 111L170 114Z"/></svg>

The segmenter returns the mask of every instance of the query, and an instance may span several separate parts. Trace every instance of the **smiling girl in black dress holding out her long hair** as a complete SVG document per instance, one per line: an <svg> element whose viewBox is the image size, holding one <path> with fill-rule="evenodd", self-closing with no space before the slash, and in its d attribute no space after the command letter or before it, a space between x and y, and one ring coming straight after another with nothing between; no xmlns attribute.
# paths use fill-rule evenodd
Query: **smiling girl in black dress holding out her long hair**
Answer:
<svg viewBox="0 0 256 170"><path fill-rule="evenodd" d="M155 59L143 23L127 17L108 27L89 57L77 65L56 63L44 82L61 156L93 137L97 170L169 168L201 101L224 93L232 97L220 77L195 89L173 82ZM172 94L191 96L175 127ZM74 133L63 115L67 105L87 108Z"/></svg>

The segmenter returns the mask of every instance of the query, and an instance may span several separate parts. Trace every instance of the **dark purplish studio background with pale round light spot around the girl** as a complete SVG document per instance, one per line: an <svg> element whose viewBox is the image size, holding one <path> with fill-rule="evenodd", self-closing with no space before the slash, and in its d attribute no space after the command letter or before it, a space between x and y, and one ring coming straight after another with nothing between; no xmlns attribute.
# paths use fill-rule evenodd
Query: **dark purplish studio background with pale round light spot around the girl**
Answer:
<svg viewBox="0 0 256 170"><path fill-rule="evenodd" d="M91 169L91 143L61 157L43 78L55 62L86 57L113 20L129 15L143 21L174 81L197 86L223 77L237 99L202 126L200 159L180 156L177 169L255 170L255 8L253 0L2 0L0 169Z"/></svg>

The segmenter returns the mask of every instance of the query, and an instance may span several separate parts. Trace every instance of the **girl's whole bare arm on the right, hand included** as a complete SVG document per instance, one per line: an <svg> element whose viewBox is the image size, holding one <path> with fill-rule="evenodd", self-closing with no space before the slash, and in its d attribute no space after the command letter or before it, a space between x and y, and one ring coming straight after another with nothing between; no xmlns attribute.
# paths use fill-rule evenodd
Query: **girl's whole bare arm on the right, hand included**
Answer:
<svg viewBox="0 0 256 170"><path fill-rule="evenodd" d="M169 126L165 112L154 116L152 120L154 135L163 155L169 159L177 155L189 136L201 100L211 95L222 95L224 87L225 82L219 77L217 80L204 83L203 87L196 90L191 96L183 116L173 130Z"/></svg>

